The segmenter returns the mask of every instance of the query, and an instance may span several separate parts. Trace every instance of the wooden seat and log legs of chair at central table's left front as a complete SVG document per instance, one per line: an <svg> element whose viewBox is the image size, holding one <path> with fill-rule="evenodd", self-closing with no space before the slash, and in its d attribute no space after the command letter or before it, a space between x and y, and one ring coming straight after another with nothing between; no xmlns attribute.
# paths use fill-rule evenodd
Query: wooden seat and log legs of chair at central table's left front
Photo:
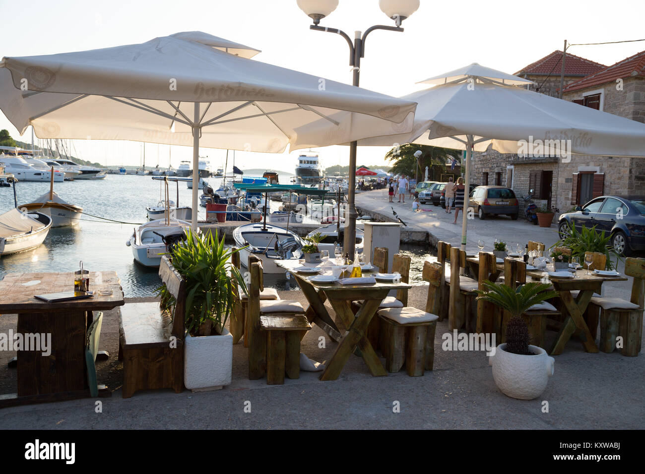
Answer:
<svg viewBox="0 0 645 474"><path fill-rule="evenodd" d="M304 314L261 315L260 328L266 331L266 383L284 384L285 372L290 379L298 379L301 331L312 328Z"/></svg>

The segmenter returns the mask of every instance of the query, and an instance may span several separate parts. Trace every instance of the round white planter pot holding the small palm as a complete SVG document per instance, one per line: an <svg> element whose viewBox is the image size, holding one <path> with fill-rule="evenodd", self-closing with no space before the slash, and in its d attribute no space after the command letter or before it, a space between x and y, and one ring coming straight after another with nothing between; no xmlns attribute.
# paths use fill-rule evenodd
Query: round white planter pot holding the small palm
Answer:
<svg viewBox="0 0 645 474"><path fill-rule="evenodd" d="M497 388L513 399L533 400L539 397L553 375L555 359L537 346L528 346L535 355L511 354L500 344L488 363L493 366Z"/></svg>

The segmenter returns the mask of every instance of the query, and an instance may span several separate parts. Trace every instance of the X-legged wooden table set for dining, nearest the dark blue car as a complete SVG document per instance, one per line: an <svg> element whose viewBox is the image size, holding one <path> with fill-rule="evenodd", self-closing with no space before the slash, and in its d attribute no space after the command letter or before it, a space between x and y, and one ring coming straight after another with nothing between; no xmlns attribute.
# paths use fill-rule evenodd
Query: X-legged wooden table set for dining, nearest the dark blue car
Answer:
<svg viewBox="0 0 645 474"><path fill-rule="evenodd" d="M520 259L517 259L520 260ZM466 259L471 271L476 272L479 267L479 257L468 257ZM598 352L598 346L591 335L591 331L584 321L584 312L589 306L591 297L594 293L600 295L602 291L602 284L607 281L627 281L628 278L624 275L600 275L599 273L591 273L587 275L587 270L579 268L575 272L575 277L555 277L548 275L551 271L551 264L548 264L549 270L526 270L526 276L531 277L533 280L541 280L548 276L553 290L559 293L559 298L565 309L564 321L560 332L551 346L551 355L560 355L564 350L564 346L571 339L575 333L579 334L580 340L584 350L587 352ZM497 262L497 270L499 275L504 272L504 262ZM477 273L475 273L477 275ZM571 294L572 291L578 291L576 297Z"/></svg>

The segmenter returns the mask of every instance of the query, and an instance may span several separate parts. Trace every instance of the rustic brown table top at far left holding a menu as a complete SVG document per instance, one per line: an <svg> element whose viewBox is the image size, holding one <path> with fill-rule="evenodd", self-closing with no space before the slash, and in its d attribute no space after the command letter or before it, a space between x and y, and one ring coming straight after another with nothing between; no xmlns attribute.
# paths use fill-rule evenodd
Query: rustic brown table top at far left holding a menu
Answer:
<svg viewBox="0 0 645 474"><path fill-rule="evenodd" d="M112 295L99 295L99 288L110 288ZM74 272L8 273L0 281L0 314L106 311L124 304L116 272L90 272L91 298L49 303L34 297L61 291L74 291Z"/></svg>

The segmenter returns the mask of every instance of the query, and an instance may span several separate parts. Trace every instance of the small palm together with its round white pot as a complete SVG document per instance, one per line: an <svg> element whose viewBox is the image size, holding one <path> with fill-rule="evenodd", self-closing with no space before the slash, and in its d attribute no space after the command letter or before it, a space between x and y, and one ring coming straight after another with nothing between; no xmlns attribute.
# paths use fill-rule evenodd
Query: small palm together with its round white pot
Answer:
<svg viewBox="0 0 645 474"><path fill-rule="evenodd" d="M497 388L508 397L532 400L546 389L553 375L555 359L538 346L532 346L526 322L521 316L534 304L557 296L550 284L530 282L513 290L502 283L484 282L486 291L476 290L477 299L489 301L511 313L506 328L506 342L497 346L488 363L493 367Z"/></svg>

